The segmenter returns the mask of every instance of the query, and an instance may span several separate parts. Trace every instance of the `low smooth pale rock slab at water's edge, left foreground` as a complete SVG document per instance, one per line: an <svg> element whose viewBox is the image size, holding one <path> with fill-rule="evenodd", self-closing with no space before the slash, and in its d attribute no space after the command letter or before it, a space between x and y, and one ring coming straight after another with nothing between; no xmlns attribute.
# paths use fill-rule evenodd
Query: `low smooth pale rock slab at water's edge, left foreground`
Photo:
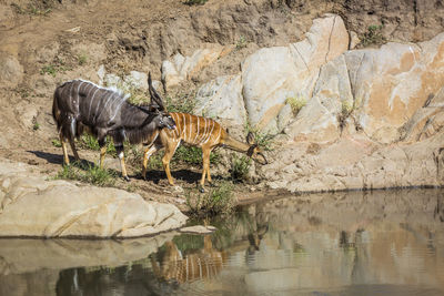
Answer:
<svg viewBox="0 0 444 296"><path fill-rule="evenodd" d="M1 162L0 236L137 237L182 226L174 205L149 203L117 188L77 186L30 175Z"/></svg>

